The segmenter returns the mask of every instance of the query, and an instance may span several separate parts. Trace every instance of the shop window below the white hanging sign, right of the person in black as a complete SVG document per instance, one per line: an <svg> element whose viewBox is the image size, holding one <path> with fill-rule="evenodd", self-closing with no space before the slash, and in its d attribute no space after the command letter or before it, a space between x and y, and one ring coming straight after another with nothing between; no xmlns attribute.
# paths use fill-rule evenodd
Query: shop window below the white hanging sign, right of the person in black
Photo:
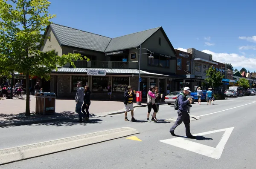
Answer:
<svg viewBox="0 0 256 169"><path fill-rule="evenodd" d="M93 92L108 92L108 77L93 76L92 83Z"/></svg>

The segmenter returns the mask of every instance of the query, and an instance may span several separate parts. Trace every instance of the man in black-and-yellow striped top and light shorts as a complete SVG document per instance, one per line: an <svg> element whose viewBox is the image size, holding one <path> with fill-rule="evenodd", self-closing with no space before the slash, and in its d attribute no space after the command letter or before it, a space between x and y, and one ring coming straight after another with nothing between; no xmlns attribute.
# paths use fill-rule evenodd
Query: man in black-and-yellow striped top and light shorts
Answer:
<svg viewBox="0 0 256 169"><path fill-rule="evenodd" d="M125 121L129 121L127 118L127 112L131 110L131 121L137 121L134 118L134 107L133 99L136 97L136 92L132 91L132 86L128 86L127 90L124 92L124 105L125 105Z"/></svg>

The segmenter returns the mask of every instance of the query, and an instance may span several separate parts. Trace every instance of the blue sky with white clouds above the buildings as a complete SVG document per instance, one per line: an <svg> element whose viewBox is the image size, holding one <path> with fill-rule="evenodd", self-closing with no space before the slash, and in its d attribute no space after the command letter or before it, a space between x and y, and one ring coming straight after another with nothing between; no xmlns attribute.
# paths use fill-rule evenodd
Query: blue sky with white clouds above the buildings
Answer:
<svg viewBox="0 0 256 169"><path fill-rule="evenodd" d="M175 49L256 71L256 1L49 0L53 23L107 37L162 26Z"/></svg>

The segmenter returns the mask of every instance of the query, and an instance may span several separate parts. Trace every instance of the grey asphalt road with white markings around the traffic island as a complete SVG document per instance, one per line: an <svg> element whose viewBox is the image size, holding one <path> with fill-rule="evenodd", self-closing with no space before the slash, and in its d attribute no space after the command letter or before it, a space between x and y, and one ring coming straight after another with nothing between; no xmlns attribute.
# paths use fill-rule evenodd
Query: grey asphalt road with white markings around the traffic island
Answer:
<svg viewBox="0 0 256 169"><path fill-rule="evenodd" d="M47 140L99 132L119 127L132 127L142 141L119 138L78 149L59 152L0 166L2 169L254 169L256 162L256 96L216 100L214 105L193 104L191 132L197 139L173 137L169 133L173 123L164 121L176 117L173 106L161 105L158 123L148 123L146 107L135 109L138 123L124 121L124 115L93 119L93 122L47 123L30 126L0 128L0 149L38 143ZM130 116L128 116L131 119ZM223 129L223 130L221 130ZM211 132L213 131L213 132ZM207 133L204 133L207 132ZM183 124L175 130L185 135ZM205 134L205 135L204 135Z"/></svg>

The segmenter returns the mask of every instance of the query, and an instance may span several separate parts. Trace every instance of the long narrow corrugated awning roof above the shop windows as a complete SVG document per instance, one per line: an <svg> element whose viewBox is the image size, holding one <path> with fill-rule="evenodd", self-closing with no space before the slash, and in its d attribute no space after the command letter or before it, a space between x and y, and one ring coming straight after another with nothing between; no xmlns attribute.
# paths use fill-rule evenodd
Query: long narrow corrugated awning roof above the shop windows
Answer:
<svg viewBox="0 0 256 169"><path fill-rule="evenodd" d="M120 73L120 74L139 74L138 69L100 69L100 68L67 68L67 67L61 67L58 68L57 72L76 72L76 73L87 73L87 70L105 70L106 73ZM56 72L55 70L52 70L52 72ZM149 75L157 75L157 76L166 76L165 74L157 74L157 73L151 73L146 72L143 70L140 70L140 74L149 74Z"/></svg>

